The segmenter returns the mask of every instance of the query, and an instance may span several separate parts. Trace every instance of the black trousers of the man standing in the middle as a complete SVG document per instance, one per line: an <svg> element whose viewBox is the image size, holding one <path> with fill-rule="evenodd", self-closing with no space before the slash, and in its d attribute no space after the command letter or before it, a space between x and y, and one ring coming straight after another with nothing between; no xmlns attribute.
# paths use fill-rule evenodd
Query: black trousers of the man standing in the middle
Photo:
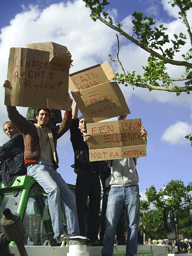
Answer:
<svg viewBox="0 0 192 256"><path fill-rule="evenodd" d="M81 236L91 242L98 240L100 227L101 185L99 174L88 170L78 170L76 179L76 206ZM89 209L87 209L87 200ZM88 226L86 216L88 212Z"/></svg>

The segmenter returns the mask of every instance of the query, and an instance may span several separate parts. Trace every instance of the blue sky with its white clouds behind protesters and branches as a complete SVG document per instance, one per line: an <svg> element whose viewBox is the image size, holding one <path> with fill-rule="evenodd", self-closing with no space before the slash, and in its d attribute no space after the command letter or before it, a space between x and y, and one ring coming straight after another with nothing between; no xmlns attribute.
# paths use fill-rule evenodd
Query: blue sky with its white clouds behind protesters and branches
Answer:
<svg viewBox="0 0 192 256"><path fill-rule="evenodd" d="M170 36L176 32L186 32L182 22L177 19L176 8L167 4L167 0L109 0L106 10L114 17L116 23L122 22L126 32L131 33L132 13L143 12L154 18L156 24L166 22ZM34 42L56 42L67 46L74 60L70 72L76 72L108 59L108 54L116 57L116 32L104 26L100 21L93 22L89 10L82 0L2 0L0 8L0 82L6 79L10 47L26 47ZM189 22L192 24L192 13ZM189 43L183 49L185 53ZM178 56L176 56L177 58ZM143 72L148 54L120 37L120 59L124 68ZM179 58L179 57L178 57ZM119 66L110 62L114 71ZM168 66L172 77L180 77L184 69ZM182 86L182 82L181 85ZM192 147L184 138L192 132L192 98L182 94L153 91L120 85L126 98L131 114L129 118L141 118L148 131L147 156L138 159L137 170L140 177L140 192L144 199L144 191L151 185L157 190L171 179L182 180L187 185L191 180ZM8 120L4 106L4 90L0 88L0 125ZM26 108L18 108L26 115ZM116 120L114 118L113 120ZM1 144L8 137L1 132ZM58 141L59 166L58 172L66 182L75 184L76 174L70 167L74 163L74 154L70 143L69 132Z"/></svg>

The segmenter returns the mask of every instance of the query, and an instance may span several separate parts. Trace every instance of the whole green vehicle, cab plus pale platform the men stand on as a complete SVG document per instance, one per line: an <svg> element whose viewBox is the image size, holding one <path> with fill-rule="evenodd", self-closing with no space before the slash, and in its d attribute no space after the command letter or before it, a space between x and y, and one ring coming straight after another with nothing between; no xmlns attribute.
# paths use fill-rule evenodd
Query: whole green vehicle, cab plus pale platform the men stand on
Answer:
<svg viewBox="0 0 192 256"><path fill-rule="evenodd" d="M68 186L75 193L75 186L70 184ZM64 242L58 244L54 239L47 195L32 177L18 176L12 186L8 188L5 188L3 182L0 182L0 218L2 218L5 208L9 208L12 213L20 214L26 231L23 242L28 256L67 256L67 254L70 256L68 244ZM167 216L169 215L167 214ZM62 217L65 226L64 212ZM3 233L1 227L0 233ZM174 239L173 236L172 239ZM12 254L20 256L15 242L11 242L9 248ZM86 247L87 252L82 255L101 256L101 250L102 246L88 246ZM176 256L175 252L177 252L177 247L172 249L168 245L139 244L136 256ZM113 256L124 256L125 254L125 245L114 245ZM74 255L76 254L72 254L72 256ZM79 253L78 255L82 256Z"/></svg>

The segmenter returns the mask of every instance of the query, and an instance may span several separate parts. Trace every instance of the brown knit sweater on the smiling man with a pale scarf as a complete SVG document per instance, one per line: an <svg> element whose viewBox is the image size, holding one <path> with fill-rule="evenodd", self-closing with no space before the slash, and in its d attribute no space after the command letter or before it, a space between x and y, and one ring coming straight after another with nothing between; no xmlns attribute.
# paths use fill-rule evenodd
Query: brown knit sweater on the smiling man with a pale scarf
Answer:
<svg viewBox="0 0 192 256"><path fill-rule="evenodd" d="M30 121L26 120L19 112L17 111L15 106L6 106L8 117L16 126L16 128L23 134L24 137L24 161L25 164L28 163L36 163L40 158L41 145L39 141L39 137L36 131L36 127ZM60 125L52 128L53 140L56 148L56 140L60 138L65 132L68 131L70 123L72 120L72 112L66 111L64 114L64 118ZM56 151L56 162L54 160L53 164L55 168L58 168L58 154Z"/></svg>

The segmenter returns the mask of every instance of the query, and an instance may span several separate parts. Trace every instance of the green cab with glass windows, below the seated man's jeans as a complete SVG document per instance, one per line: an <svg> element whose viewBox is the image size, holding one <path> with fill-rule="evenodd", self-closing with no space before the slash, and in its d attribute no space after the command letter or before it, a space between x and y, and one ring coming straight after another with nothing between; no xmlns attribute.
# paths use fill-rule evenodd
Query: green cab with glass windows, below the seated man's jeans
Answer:
<svg viewBox="0 0 192 256"><path fill-rule="evenodd" d="M75 186L68 185L75 193ZM12 186L5 188L0 183L0 218L4 208L20 214L26 235L24 244L41 246L46 240L51 246L59 246L54 237L48 209L47 195L43 188L30 176L18 176ZM63 224L65 225L64 213ZM0 227L0 232L3 232ZM15 245L14 242L10 246Z"/></svg>

